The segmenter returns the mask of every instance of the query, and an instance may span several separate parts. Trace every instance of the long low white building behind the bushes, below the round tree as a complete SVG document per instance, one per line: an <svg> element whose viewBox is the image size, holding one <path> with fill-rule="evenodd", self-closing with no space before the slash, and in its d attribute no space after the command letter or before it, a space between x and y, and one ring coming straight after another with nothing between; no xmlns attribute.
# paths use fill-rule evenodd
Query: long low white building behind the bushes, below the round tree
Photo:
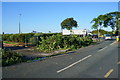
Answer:
<svg viewBox="0 0 120 80"><path fill-rule="evenodd" d="M88 29L83 29L83 30L62 30L62 35L70 35L70 34L75 34L75 35L81 35L81 36L86 36L86 35L91 35L91 31Z"/></svg>

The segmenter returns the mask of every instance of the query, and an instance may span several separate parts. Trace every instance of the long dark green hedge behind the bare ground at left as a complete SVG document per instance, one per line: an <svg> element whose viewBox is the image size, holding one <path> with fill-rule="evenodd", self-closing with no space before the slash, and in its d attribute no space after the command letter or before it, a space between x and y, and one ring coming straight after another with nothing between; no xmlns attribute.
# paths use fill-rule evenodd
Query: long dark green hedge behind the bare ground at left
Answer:
<svg viewBox="0 0 120 80"><path fill-rule="evenodd" d="M3 41L12 41L12 42L33 42L37 38L33 37L49 37L52 35L57 35L60 33L22 33L22 34L3 34Z"/></svg>

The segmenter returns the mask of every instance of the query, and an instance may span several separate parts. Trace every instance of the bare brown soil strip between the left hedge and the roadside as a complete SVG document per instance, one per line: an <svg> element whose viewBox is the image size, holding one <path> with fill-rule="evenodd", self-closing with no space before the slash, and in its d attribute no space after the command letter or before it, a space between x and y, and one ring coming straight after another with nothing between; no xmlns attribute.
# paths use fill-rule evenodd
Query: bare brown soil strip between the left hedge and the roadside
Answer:
<svg viewBox="0 0 120 80"><path fill-rule="evenodd" d="M4 43L4 47L5 49L11 49L12 51L18 52L28 58L51 56L68 51L68 49L64 49L64 50L56 50L49 53L44 53L44 52L36 51L34 46L25 47L24 45L14 45L14 44L6 44L6 43Z"/></svg>

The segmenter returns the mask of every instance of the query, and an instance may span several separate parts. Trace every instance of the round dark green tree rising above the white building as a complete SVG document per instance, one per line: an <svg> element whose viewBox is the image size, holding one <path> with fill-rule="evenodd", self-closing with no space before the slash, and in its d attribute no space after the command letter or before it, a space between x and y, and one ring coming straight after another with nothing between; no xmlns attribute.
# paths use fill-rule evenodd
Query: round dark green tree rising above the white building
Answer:
<svg viewBox="0 0 120 80"><path fill-rule="evenodd" d="M73 18L67 18L61 23L62 29L71 30L73 27L78 27L77 21L75 21Z"/></svg>

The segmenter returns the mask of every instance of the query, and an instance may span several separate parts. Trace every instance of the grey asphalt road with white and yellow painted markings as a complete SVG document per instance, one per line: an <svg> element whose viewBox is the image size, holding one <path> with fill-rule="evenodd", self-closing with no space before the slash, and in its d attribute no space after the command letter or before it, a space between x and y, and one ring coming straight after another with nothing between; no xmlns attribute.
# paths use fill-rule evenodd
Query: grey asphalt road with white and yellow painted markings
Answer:
<svg viewBox="0 0 120 80"><path fill-rule="evenodd" d="M3 67L3 78L118 78L118 44L103 41L74 53Z"/></svg>

